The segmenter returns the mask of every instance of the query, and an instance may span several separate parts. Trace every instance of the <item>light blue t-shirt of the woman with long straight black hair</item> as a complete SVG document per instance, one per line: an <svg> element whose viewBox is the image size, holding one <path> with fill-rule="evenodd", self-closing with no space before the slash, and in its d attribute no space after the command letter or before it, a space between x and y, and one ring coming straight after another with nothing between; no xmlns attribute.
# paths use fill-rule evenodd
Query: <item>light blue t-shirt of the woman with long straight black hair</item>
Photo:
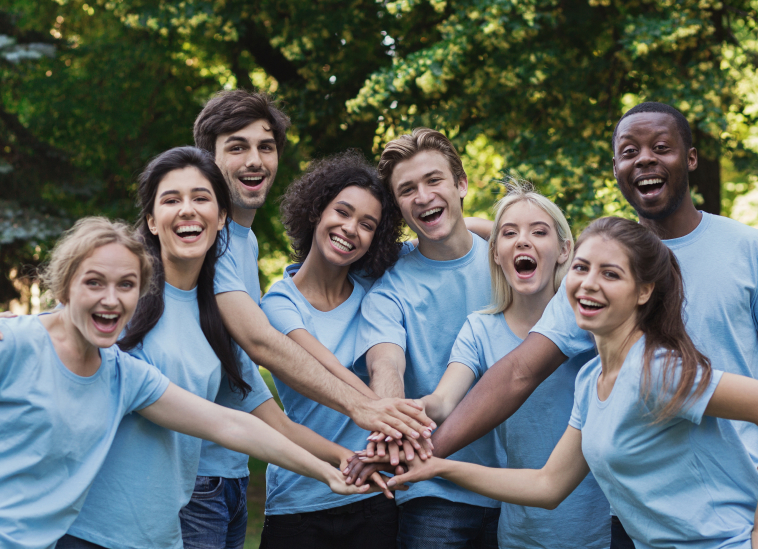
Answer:
<svg viewBox="0 0 758 549"><path fill-rule="evenodd" d="M222 367L200 328L197 288L166 284L163 297L163 315L130 352L182 389L213 400ZM181 548L179 511L192 496L200 442L141 416L125 417L69 534L110 549Z"/></svg>

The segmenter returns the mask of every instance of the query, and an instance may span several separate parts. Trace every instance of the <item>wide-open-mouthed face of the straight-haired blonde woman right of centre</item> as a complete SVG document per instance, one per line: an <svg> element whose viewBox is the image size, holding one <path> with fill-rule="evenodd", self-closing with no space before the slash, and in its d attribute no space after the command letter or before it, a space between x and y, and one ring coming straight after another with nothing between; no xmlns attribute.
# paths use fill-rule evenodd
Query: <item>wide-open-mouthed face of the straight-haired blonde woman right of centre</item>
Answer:
<svg viewBox="0 0 758 549"><path fill-rule="evenodd" d="M555 269L568 260L550 215L527 200L512 204L500 218L494 260L513 291L553 295Z"/></svg>

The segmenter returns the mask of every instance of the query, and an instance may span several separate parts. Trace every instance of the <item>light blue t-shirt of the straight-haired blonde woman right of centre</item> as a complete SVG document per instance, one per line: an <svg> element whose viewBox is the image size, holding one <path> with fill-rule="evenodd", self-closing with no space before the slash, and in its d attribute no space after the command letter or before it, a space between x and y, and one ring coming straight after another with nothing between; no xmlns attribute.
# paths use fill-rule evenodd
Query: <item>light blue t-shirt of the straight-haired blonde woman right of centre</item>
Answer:
<svg viewBox="0 0 758 549"><path fill-rule="evenodd" d="M478 381L522 341L511 331L503 313L474 313L455 340L450 362L471 368ZM498 438L508 454L508 467L540 469L547 463L571 416L576 375L593 356L594 353L584 353L561 364L515 414L497 427ZM552 511L510 503L501 507L497 530L500 549L607 549L610 538L608 500L592 474Z"/></svg>

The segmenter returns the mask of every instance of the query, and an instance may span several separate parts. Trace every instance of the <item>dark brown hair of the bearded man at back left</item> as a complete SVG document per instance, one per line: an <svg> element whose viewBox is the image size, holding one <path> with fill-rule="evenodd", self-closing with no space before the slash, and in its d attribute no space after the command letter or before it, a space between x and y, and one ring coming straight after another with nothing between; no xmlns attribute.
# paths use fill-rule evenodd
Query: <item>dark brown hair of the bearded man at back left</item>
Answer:
<svg viewBox="0 0 758 549"><path fill-rule="evenodd" d="M216 156L216 138L219 135L236 132L261 119L271 125L276 154L281 158L290 119L270 95L262 92L229 90L214 95L195 120L195 146Z"/></svg>

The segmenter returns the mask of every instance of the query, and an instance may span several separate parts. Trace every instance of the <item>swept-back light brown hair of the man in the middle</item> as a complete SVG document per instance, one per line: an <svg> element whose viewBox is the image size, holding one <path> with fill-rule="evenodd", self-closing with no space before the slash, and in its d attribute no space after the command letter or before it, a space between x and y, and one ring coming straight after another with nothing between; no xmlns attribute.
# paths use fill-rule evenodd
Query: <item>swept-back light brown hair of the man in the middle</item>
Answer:
<svg viewBox="0 0 758 549"><path fill-rule="evenodd" d="M403 160L408 160L422 151L437 151L447 159L450 165L450 171L453 172L455 186L458 186L458 180L466 177L466 171L463 169L463 162L458 156L458 151L443 134L429 128L414 128L409 134L401 135L393 139L382 151L379 159L379 178L390 193L395 196L392 190L392 172L395 166Z"/></svg>

